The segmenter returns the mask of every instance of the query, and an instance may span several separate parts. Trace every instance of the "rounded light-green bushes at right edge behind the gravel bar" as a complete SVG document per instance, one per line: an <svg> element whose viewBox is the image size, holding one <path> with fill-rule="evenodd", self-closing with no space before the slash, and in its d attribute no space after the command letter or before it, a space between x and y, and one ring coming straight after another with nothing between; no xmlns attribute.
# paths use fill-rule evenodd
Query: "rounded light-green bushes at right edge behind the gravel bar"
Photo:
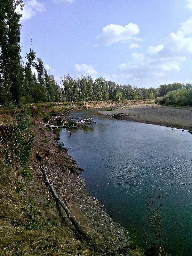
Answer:
<svg viewBox="0 0 192 256"><path fill-rule="evenodd" d="M192 106L192 88L168 92L157 98L157 103L163 106Z"/></svg>

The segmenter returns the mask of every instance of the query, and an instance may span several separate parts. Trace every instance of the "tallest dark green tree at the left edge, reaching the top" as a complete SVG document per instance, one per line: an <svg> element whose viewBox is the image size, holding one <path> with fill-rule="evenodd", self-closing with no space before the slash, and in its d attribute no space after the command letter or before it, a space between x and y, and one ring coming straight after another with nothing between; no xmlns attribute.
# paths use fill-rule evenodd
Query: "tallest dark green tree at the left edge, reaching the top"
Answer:
<svg viewBox="0 0 192 256"><path fill-rule="evenodd" d="M21 105L23 68L20 56L22 0L0 0L0 100Z"/></svg>

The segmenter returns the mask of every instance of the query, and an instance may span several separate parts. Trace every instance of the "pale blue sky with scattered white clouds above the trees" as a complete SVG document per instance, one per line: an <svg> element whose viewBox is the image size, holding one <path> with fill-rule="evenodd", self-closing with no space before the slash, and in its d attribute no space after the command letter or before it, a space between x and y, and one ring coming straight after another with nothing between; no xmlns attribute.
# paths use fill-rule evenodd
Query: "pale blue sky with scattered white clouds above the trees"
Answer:
<svg viewBox="0 0 192 256"><path fill-rule="evenodd" d="M192 83L192 0L25 0L22 56L33 49L60 81Z"/></svg>

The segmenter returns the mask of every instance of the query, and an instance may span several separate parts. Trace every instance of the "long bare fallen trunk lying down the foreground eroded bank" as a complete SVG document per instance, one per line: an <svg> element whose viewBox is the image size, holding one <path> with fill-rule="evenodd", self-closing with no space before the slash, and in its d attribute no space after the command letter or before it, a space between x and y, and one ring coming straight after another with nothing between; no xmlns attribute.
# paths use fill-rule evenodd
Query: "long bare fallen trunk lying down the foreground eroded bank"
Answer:
<svg viewBox="0 0 192 256"><path fill-rule="evenodd" d="M66 212L69 220L71 221L71 223L73 224L73 226L76 228L77 232L80 234L80 236L82 238L84 238L85 240L87 240L88 242L91 242L92 239L91 239L91 236L89 236L84 230L83 228L81 228L81 226L79 225L79 222L72 216L71 212L69 211L68 207L64 204L64 202L60 199L60 197L57 195L52 183L49 181L49 178L47 176L47 172L46 172L46 169L45 169L45 166L44 164L43 165L43 174L44 174L44 178L45 178L45 181L47 182L47 184L49 185L49 188L51 189L52 191L52 194L55 198L55 201L57 203L60 204L60 206L63 208L63 210Z"/></svg>

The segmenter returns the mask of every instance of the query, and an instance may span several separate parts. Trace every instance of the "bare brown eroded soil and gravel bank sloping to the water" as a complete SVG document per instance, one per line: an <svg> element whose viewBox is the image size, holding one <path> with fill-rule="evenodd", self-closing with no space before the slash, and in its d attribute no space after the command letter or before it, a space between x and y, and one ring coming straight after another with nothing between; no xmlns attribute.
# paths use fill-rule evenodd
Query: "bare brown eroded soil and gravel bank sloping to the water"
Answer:
<svg viewBox="0 0 192 256"><path fill-rule="evenodd" d="M107 241L109 247L115 248L130 244L129 233L108 216L98 200L85 192L85 182L78 176L81 169L67 153L58 152L57 136L37 120L33 132L36 134L30 158L33 179L28 184L28 196L45 207L47 202L54 202L43 179L43 163L56 192L93 239L97 236L97 241L103 244ZM45 218L49 218L52 212L46 214Z"/></svg>

